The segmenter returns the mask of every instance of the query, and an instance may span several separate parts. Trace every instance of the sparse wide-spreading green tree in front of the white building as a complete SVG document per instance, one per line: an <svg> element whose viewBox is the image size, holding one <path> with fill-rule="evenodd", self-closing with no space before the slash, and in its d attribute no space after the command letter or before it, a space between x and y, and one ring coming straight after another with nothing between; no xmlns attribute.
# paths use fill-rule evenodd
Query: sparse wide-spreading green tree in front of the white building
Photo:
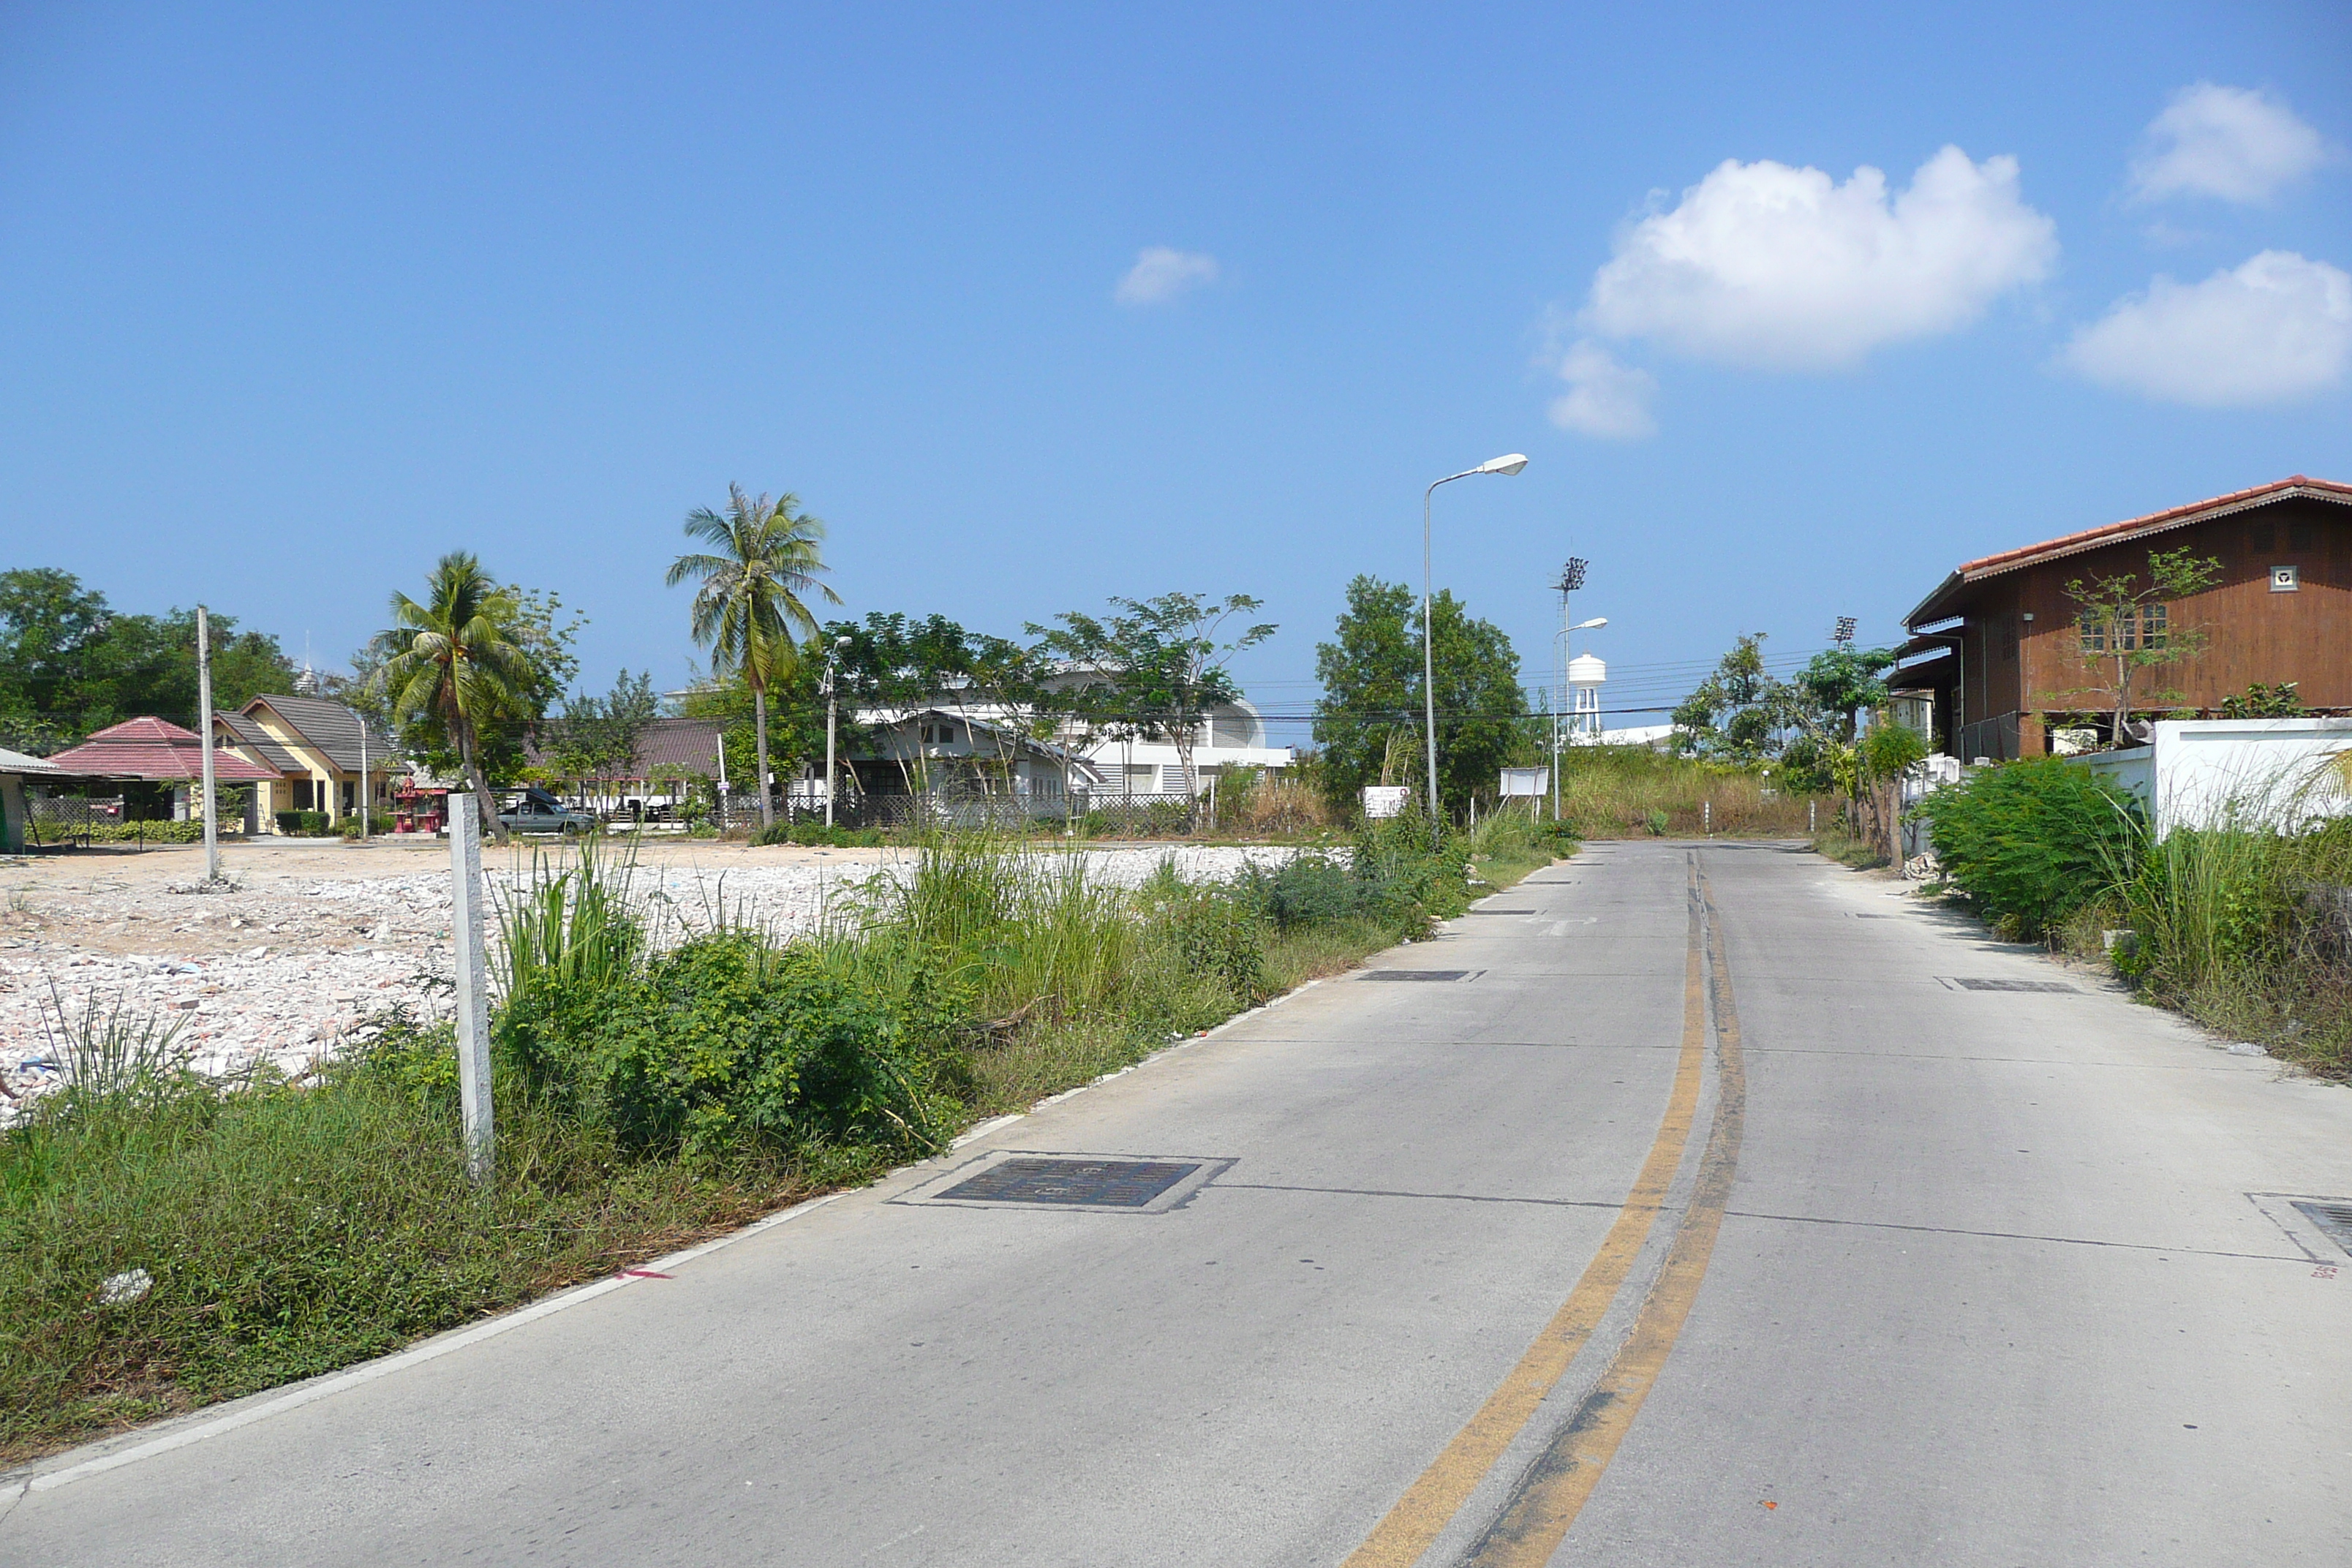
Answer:
<svg viewBox="0 0 2352 1568"><path fill-rule="evenodd" d="M1209 599L1164 592L1157 599L1110 599L1108 618L1063 611L1061 625L1030 625L1037 651L1061 658L1080 677L1068 691L1075 717L1098 736L1152 741L1176 748L1176 766L1192 771L1200 724L1216 703L1242 696L1228 665L1235 654L1275 635L1263 621L1225 635L1237 616L1258 609L1247 592Z"/></svg>

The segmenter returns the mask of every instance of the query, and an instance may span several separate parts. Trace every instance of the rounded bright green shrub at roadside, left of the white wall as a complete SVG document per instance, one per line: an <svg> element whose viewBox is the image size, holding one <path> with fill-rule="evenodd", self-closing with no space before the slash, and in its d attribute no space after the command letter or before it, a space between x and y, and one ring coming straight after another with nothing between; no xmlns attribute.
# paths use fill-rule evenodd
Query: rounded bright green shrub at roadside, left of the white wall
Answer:
<svg viewBox="0 0 2352 1568"><path fill-rule="evenodd" d="M2063 757L1978 769L1919 804L1945 877L2018 936L2042 936L2136 865L2140 809Z"/></svg>

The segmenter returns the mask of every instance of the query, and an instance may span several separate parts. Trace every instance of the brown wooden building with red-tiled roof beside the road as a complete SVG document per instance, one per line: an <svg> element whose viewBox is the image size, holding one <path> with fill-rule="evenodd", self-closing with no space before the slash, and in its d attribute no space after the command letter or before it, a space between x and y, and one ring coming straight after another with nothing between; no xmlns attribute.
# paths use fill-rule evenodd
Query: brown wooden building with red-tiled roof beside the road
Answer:
<svg viewBox="0 0 2352 1568"><path fill-rule="evenodd" d="M2218 559L2220 578L2147 635L2201 632L2204 651L2145 670L2136 717L2213 717L2281 682L2312 712L2352 712L2352 484L2303 475L1964 562L1905 616L1893 684L1933 701L1936 745L1962 759L2039 757L2065 724L2110 741L2096 632L2067 583L2145 585L2150 552L2180 548Z"/></svg>

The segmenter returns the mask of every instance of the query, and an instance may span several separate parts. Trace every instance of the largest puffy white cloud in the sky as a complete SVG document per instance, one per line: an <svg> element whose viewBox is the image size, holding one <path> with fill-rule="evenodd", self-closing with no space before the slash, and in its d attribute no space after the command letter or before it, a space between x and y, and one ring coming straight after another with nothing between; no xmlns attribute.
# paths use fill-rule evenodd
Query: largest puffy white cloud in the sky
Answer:
<svg viewBox="0 0 2352 1568"><path fill-rule="evenodd" d="M1623 235L1592 275L1585 322L1696 357L1839 369L1872 348L1966 327L2039 282L2058 228L2018 200L2018 162L1943 148L1889 197L1860 167L1724 160Z"/></svg>

